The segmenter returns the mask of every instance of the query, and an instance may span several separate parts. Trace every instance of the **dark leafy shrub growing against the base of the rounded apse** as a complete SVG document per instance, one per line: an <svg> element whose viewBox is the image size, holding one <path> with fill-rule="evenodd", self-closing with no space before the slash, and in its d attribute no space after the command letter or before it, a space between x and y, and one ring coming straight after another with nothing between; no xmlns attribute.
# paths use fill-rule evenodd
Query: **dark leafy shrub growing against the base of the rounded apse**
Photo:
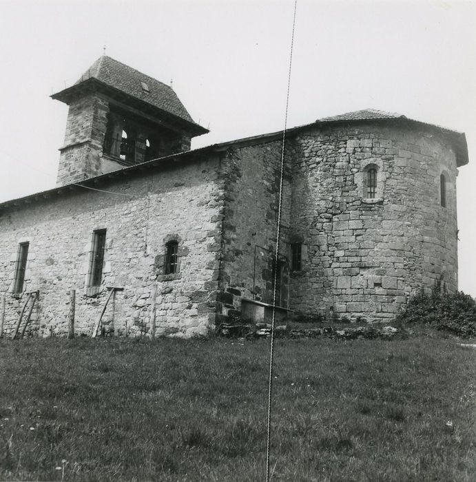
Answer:
<svg viewBox="0 0 476 482"><path fill-rule="evenodd" d="M413 296L397 321L430 324L456 335L476 336L476 300L462 291L440 293L439 286L435 286L431 293L420 291Z"/></svg>

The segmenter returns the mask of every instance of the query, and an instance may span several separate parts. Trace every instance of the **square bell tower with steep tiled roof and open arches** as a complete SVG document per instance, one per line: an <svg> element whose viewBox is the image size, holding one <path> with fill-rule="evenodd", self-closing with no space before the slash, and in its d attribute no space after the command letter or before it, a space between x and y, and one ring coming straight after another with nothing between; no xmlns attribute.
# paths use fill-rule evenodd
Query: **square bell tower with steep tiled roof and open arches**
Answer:
<svg viewBox="0 0 476 482"><path fill-rule="evenodd" d="M52 98L70 107L59 186L188 151L193 137L208 132L172 87L105 55Z"/></svg>

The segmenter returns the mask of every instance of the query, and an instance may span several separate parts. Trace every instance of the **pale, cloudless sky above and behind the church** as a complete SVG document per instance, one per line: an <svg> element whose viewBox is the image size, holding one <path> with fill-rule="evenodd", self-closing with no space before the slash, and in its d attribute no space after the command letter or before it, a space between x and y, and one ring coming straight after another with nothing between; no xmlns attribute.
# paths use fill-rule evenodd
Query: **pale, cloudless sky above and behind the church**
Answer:
<svg viewBox="0 0 476 482"><path fill-rule="evenodd" d="M54 187L68 106L103 54L171 83L210 129L192 148L284 126L293 0L0 0L0 202ZM288 127L358 109L466 133L459 289L476 297L476 1L298 0Z"/></svg>

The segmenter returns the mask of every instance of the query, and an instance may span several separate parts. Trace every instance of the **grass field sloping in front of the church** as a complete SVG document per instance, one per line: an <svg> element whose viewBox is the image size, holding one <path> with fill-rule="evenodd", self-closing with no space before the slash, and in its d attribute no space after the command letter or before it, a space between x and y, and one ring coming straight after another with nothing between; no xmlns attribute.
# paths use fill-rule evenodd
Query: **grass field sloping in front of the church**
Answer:
<svg viewBox="0 0 476 482"><path fill-rule="evenodd" d="M0 340L0 479L262 481L269 341ZM476 350L280 339L276 481L474 481Z"/></svg>

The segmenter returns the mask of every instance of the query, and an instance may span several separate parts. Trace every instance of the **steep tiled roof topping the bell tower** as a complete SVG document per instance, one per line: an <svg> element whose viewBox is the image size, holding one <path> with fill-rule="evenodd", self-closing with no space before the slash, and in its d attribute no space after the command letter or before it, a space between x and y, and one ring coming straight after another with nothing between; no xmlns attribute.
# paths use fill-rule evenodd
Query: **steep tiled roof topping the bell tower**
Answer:
<svg viewBox="0 0 476 482"><path fill-rule="evenodd" d="M105 55L99 57L74 85L79 85L90 78L96 78L110 87L183 118L185 121L194 122L172 87L111 57ZM141 82L147 84L149 92L143 89Z"/></svg>

